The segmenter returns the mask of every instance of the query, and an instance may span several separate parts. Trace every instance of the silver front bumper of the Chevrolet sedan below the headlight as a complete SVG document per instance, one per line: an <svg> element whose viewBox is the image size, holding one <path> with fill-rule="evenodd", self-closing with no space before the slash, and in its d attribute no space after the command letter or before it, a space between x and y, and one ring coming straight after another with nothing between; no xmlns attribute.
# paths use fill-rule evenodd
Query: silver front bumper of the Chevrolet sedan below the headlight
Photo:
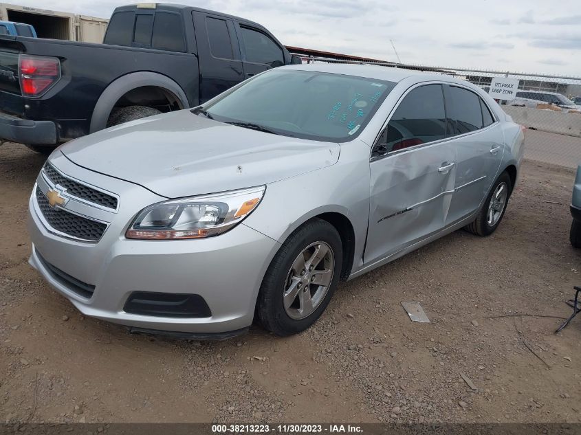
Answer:
<svg viewBox="0 0 581 435"><path fill-rule="evenodd" d="M171 331L191 338L220 333L226 337L223 333L236 335L252 324L262 278L280 247L278 242L243 223L220 236L199 240L127 239L124 233L133 216L160 198L140 186L75 169L81 172L75 173L78 178L91 183L97 180L101 187L120 194L120 206L114 216L111 213L111 225L100 241L85 243L50 231L39 217L32 194L29 263L56 291L85 315L129 326L133 332ZM61 170L67 173L66 164ZM71 280L59 279L55 269L80 282L80 287L89 286L89 293L79 291ZM127 313L125 303L136 291L200 295L211 314L161 317Z"/></svg>

